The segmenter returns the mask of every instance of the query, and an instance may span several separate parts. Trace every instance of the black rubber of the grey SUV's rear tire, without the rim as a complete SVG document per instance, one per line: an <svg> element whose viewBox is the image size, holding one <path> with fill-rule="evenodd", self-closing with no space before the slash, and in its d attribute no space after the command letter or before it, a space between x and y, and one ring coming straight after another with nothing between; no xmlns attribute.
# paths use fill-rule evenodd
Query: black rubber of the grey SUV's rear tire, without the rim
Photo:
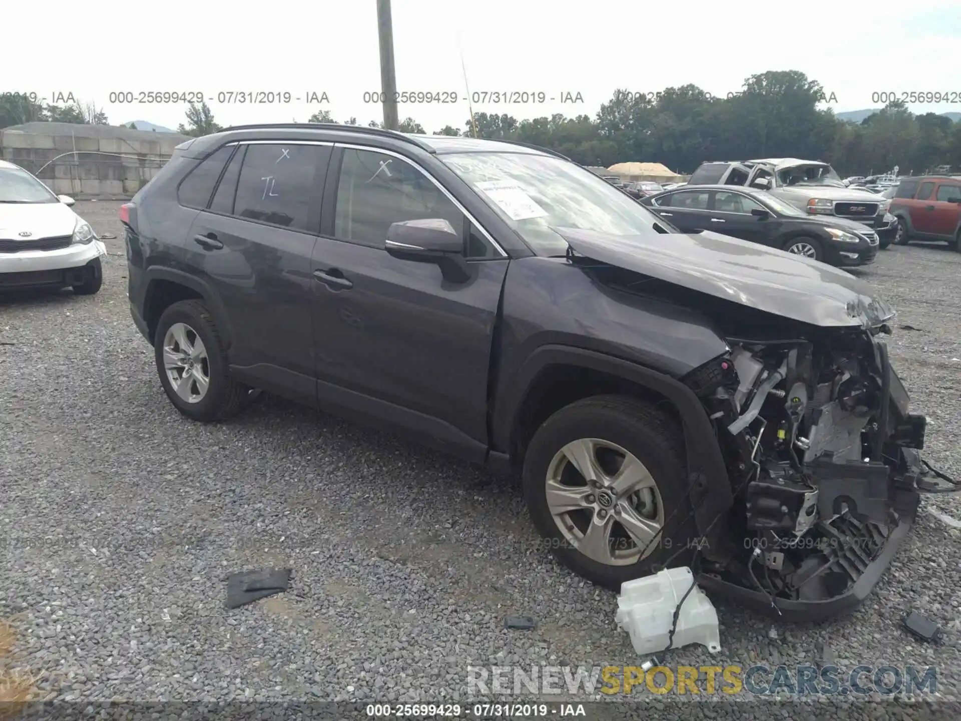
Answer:
<svg viewBox="0 0 961 721"><path fill-rule="evenodd" d="M164 369L163 338L175 323L189 326L207 349L209 386L206 395L196 403L189 403L177 395ZM180 301L163 311L154 336L154 358L163 391L174 407L187 418L197 421L224 420L234 416L251 397L251 388L231 377L224 342L212 314L202 301Z"/></svg>

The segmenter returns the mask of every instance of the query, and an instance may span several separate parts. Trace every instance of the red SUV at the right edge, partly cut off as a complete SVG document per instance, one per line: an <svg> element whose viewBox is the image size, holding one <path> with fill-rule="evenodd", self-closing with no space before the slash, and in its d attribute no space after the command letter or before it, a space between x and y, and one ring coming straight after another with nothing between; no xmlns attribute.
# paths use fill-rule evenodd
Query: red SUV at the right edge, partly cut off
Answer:
<svg viewBox="0 0 961 721"><path fill-rule="evenodd" d="M961 177L905 178L888 212L898 218L898 245L944 240L961 252Z"/></svg>

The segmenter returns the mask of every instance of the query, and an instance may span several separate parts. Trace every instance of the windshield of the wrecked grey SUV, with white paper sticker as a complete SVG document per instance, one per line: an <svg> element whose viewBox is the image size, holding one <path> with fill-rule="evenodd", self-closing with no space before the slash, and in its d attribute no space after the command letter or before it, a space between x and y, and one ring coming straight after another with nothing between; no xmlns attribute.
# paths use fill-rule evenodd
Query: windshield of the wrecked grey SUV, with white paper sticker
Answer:
<svg viewBox="0 0 961 721"><path fill-rule="evenodd" d="M636 236L656 233L660 221L629 195L579 165L527 153L454 153L438 158L542 256L567 252L553 228Z"/></svg>

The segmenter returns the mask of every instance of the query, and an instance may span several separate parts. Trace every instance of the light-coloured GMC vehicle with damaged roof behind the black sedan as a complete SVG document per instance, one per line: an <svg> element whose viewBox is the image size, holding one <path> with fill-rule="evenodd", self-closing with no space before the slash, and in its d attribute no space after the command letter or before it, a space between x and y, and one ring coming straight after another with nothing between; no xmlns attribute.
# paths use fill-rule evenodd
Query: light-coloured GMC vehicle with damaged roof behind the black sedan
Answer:
<svg viewBox="0 0 961 721"><path fill-rule="evenodd" d="M849 188L826 162L768 158L744 162L702 162L688 185L749 186L767 190L812 215L836 215L874 229L886 248L898 233L888 203L875 193Z"/></svg>

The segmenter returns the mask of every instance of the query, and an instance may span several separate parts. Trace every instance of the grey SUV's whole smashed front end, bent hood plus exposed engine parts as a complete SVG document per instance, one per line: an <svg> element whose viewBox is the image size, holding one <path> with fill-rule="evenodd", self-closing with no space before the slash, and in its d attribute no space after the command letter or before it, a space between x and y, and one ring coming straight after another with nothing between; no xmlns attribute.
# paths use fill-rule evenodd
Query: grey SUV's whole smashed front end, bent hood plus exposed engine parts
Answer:
<svg viewBox="0 0 961 721"><path fill-rule="evenodd" d="M699 314L726 341L675 376L710 428L692 438L688 410L686 441L725 465L689 468L702 587L787 620L855 609L921 494L958 490L921 460L924 416L881 339L893 309L843 271L733 238L562 233L596 286Z"/></svg>

